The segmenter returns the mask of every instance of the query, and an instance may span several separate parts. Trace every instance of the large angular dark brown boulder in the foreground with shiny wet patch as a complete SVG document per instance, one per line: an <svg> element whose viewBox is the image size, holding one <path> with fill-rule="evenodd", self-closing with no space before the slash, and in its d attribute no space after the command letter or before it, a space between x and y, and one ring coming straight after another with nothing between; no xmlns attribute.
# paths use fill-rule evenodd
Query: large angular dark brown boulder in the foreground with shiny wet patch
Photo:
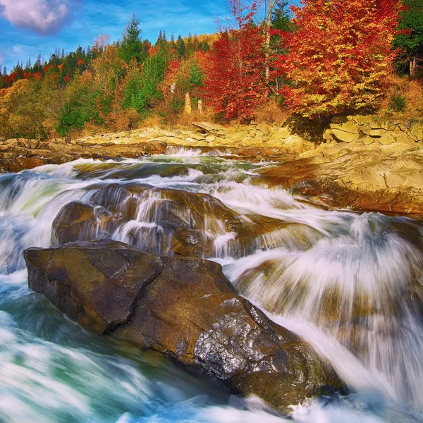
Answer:
<svg viewBox="0 0 423 423"><path fill-rule="evenodd" d="M240 297L221 266L123 243L26 250L30 288L94 332L169 355L287 411L343 386L307 343Z"/></svg>

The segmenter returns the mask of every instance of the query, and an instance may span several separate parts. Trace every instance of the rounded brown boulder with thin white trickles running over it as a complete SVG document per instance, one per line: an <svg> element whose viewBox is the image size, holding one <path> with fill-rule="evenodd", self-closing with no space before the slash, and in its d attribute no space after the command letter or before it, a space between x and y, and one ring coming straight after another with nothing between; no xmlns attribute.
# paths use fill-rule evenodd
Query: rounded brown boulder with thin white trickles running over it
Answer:
<svg viewBox="0 0 423 423"><path fill-rule="evenodd" d="M139 183L92 185L84 202L63 206L52 225L52 244L113 238L155 254L234 257L269 245L268 234L287 224L245 216L200 192Z"/></svg>

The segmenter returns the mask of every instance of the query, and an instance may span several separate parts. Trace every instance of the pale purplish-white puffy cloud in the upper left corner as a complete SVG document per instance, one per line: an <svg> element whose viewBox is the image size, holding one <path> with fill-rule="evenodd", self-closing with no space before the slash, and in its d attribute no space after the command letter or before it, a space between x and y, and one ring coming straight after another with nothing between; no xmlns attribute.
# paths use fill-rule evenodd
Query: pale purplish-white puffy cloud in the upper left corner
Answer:
<svg viewBox="0 0 423 423"><path fill-rule="evenodd" d="M57 32L71 18L73 0L0 0L1 16L41 34Z"/></svg>

